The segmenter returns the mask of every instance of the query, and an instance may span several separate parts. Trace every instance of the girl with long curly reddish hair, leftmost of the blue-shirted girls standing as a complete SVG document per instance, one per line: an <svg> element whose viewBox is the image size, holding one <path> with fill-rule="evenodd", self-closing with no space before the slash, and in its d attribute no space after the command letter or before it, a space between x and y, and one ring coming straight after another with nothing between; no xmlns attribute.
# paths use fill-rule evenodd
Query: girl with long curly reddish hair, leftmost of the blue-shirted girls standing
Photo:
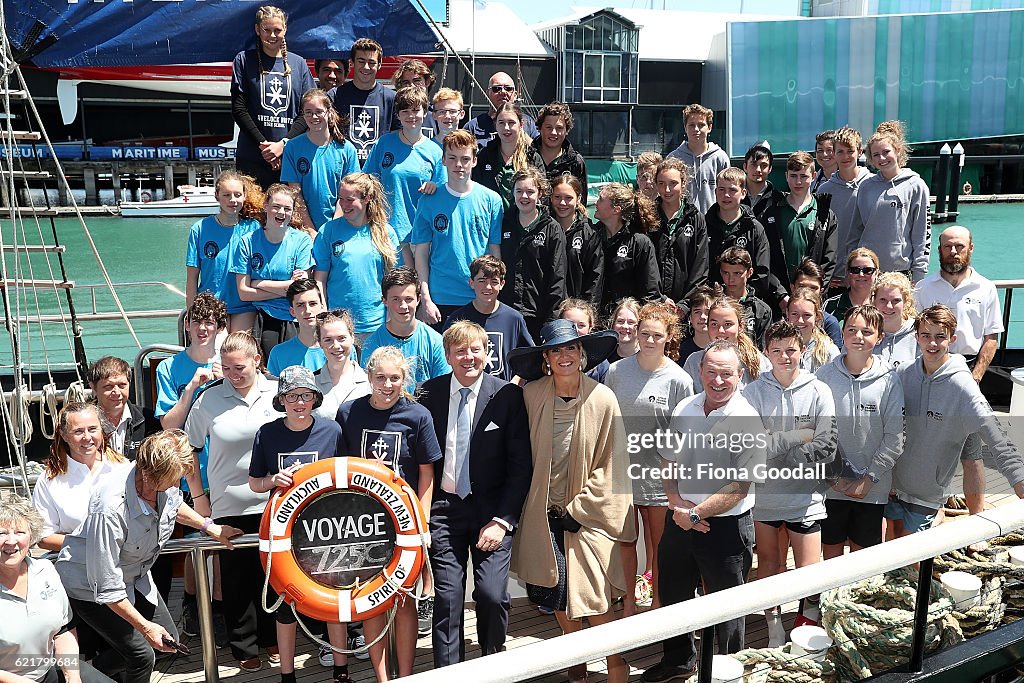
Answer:
<svg viewBox="0 0 1024 683"><path fill-rule="evenodd" d="M255 310L252 304L239 298L228 267L242 238L259 227L259 221L249 217L256 211L250 198L257 193L259 187L236 171L224 171L217 176L214 195L220 210L196 221L188 230L185 307L191 305L199 292L210 292L227 305L228 313Z"/></svg>

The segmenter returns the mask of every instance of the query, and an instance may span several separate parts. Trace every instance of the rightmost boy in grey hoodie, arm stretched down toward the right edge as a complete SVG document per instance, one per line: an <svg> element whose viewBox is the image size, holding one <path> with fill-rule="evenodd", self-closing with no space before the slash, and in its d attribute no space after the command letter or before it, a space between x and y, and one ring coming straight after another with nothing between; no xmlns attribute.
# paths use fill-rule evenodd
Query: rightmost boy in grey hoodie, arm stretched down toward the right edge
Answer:
<svg viewBox="0 0 1024 683"><path fill-rule="evenodd" d="M964 442L974 432L981 434L999 472L1024 498L1024 459L1007 439L964 356L949 353L955 315L937 304L922 311L916 331L922 358L898 371L906 403L906 446L893 470L897 500L886 507L886 517L897 522L898 536L930 525L928 511L934 516L949 496Z"/></svg>

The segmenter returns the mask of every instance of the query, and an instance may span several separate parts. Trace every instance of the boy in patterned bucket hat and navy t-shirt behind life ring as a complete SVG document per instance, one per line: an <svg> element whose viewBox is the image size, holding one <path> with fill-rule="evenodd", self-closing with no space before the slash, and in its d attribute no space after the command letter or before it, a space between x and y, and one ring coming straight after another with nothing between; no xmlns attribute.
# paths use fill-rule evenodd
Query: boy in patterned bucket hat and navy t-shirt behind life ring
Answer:
<svg viewBox="0 0 1024 683"><path fill-rule="evenodd" d="M338 454L341 427L334 420L317 418L315 411L324 400L316 378L308 368L289 366L281 371L273 408L285 414L259 428L253 441L249 463L249 487L264 494L292 485L292 475L307 463L334 458ZM275 612L278 649L281 654L282 681L295 680L295 615L288 605ZM347 633L341 624L328 624L331 644L347 646ZM334 680L347 681L346 655L336 654Z"/></svg>

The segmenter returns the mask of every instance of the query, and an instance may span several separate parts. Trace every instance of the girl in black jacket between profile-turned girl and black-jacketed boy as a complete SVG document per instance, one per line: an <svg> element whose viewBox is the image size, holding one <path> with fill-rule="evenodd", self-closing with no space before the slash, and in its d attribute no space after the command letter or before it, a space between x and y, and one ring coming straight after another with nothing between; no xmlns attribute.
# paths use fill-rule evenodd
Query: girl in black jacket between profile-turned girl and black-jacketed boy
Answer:
<svg viewBox="0 0 1024 683"><path fill-rule="evenodd" d="M666 159L654 171L658 225L647 237L654 246L662 274L662 294L684 311L686 299L708 282L708 228L703 214L684 196L686 166Z"/></svg>

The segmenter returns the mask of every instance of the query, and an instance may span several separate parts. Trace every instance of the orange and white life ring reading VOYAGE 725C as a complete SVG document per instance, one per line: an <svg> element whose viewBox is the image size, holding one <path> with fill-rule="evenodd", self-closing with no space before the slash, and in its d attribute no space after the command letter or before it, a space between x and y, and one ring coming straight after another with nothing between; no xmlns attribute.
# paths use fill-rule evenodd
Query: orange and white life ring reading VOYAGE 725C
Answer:
<svg viewBox="0 0 1024 683"><path fill-rule="evenodd" d="M376 501L380 512L364 513L358 519L304 518L296 529L300 513L317 502L324 507L330 505L326 497L332 494L364 499L347 499L341 505L373 506ZM317 537L317 529L327 529L327 536L332 538ZM333 538L335 531L337 538ZM380 541L381 531L388 539L393 533L393 544ZM348 543L331 543L341 541L349 532L359 539L369 536L378 540L347 539ZM383 613L400 592L416 585L426 562L426 519L415 492L394 471L364 458L329 458L302 466L295 473L292 486L271 498L260 521L260 560L264 566L269 560L270 586L285 595L286 602L294 603L299 612L323 622L357 622ZM314 545L303 547L306 541ZM316 541L327 543L315 545ZM389 557L380 556L381 544L391 546ZM358 573L343 566L345 560L352 559L353 548L362 559L372 560L369 569L362 567L364 573L373 571L375 562L381 568L369 579L357 578L347 583L353 573ZM378 554L370 557L374 551ZM312 571L311 558L317 562ZM335 580L325 579L326 575ZM341 575L347 579L339 583Z"/></svg>

